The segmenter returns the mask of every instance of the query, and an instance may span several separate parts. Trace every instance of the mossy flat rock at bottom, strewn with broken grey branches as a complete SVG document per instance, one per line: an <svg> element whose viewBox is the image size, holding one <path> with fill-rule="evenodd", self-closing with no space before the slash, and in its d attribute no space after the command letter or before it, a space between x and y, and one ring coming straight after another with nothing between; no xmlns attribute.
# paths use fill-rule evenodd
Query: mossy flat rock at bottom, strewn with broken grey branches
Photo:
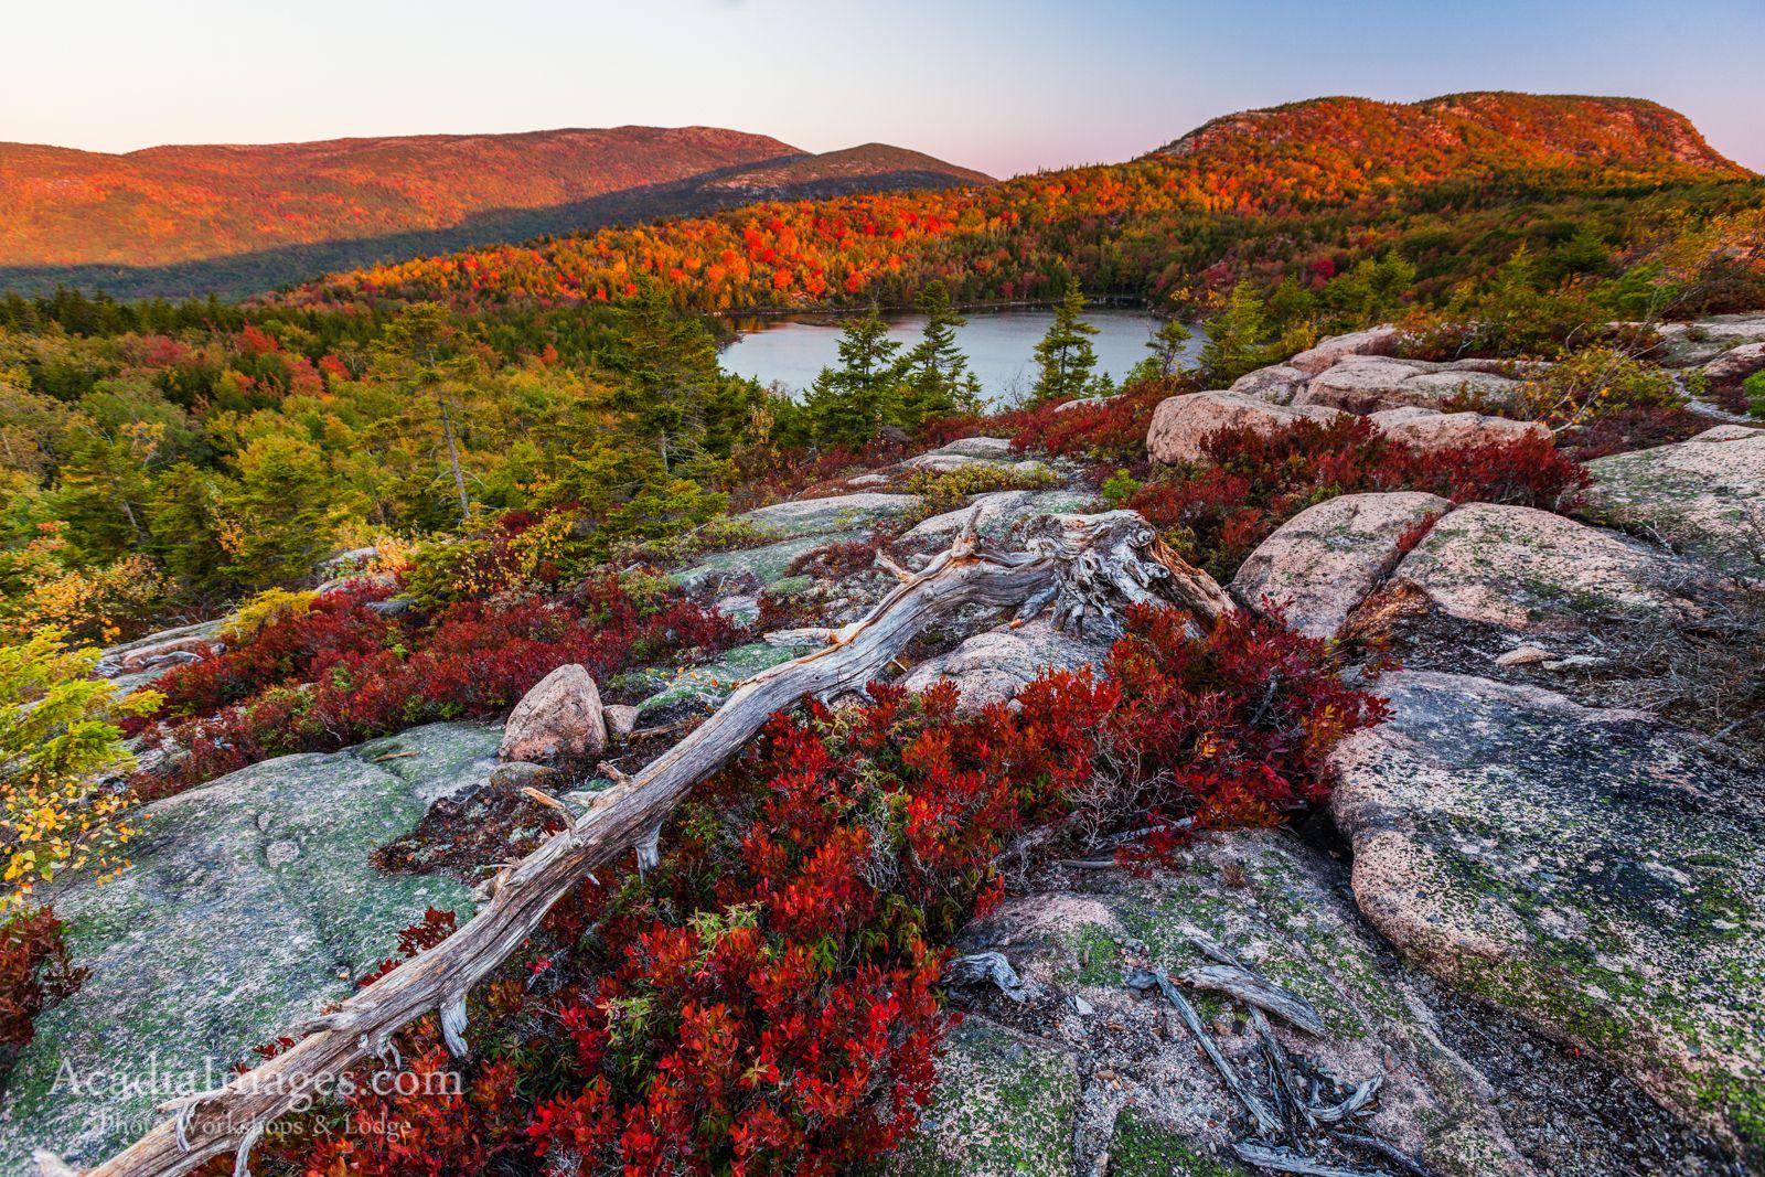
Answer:
<svg viewBox="0 0 1765 1177"><path fill-rule="evenodd" d="M1075 889L1013 898L962 933L962 951L1003 951L1025 990L1022 1002L987 992L962 999L1034 1034L1045 1050L1078 1055L1077 1124L1068 1133L1078 1156L1064 1172L1101 1172L1093 1166L1105 1151L1112 1173L1237 1172L1218 1158L1253 1135L1241 1105L1174 1011L1124 983L1138 967L1177 976L1209 963L1195 933L1225 944L1318 1011L1322 1039L1276 1027L1294 1055L1341 1080L1384 1076L1366 1131L1421 1154L1444 1177L1534 1172L1504 1133L1493 1092L1442 1043L1421 992L1380 960L1378 937L1333 868L1283 831L1205 836L1181 858L1179 870L1145 879L1103 872ZM1190 997L1227 1057L1264 1083L1248 1020L1213 993ZM1003 1075L992 1082L1010 1075L1003 1062L994 1066ZM932 1115L939 1113L934 1103ZM1123 1115L1138 1121L1130 1121L1137 1149L1160 1142L1158 1168L1117 1168L1133 1156L1117 1154Z"/></svg>

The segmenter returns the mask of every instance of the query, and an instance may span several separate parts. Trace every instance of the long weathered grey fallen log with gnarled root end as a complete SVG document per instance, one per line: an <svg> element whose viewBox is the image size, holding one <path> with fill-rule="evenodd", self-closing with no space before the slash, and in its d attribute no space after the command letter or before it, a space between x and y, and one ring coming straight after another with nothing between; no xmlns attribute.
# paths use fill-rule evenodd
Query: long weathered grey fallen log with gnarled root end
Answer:
<svg viewBox="0 0 1765 1177"><path fill-rule="evenodd" d="M651 863L662 821L770 715L805 695L861 690L914 635L965 605L1017 607L1018 618L1033 618L1052 603L1059 625L1105 630L1119 630L1121 609L1133 602L1181 605L1204 628L1234 609L1207 574L1170 554L1133 512L1038 519L1027 547L981 551L971 515L948 551L909 574L870 614L833 630L821 649L741 683L690 736L605 791L574 829L498 872L485 886L485 905L447 941L297 1027L291 1038L298 1041L286 1052L187 1101L176 1117L86 1177L171 1177L242 1145L249 1152L261 1126L349 1068L385 1055L399 1029L431 1011L439 1011L448 1046L464 1053L468 992L521 946L552 903L628 849L639 851L642 865ZM65 1177L72 1170L42 1154L39 1172Z"/></svg>

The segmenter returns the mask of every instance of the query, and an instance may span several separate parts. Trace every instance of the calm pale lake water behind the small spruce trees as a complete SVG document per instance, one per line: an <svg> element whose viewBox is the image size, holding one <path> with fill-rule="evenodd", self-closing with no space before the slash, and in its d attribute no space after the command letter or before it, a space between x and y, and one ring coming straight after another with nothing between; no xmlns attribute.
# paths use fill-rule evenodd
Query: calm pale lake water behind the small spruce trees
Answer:
<svg viewBox="0 0 1765 1177"><path fill-rule="evenodd" d="M920 342L923 314L882 316L890 339L907 348ZM1093 307L1085 321L1098 328L1091 346L1098 369L1121 379L1145 356L1145 341L1158 326L1149 311ZM967 326L957 328L957 346L981 381L988 399L1015 404L1036 383L1036 342L1048 332L1054 311L969 311ZM731 376L748 376L762 385L778 383L792 394L808 388L824 367L840 362L840 321L817 318L736 319L741 339L718 356ZM1200 349L1200 335L1190 341L1190 355Z"/></svg>

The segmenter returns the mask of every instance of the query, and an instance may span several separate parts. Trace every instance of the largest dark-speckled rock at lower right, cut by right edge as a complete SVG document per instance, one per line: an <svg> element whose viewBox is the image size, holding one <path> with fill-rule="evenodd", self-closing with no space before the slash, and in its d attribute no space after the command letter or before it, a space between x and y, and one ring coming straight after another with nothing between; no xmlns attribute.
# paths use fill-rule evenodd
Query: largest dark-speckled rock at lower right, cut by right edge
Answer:
<svg viewBox="0 0 1765 1177"><path fill-rule="evenodd" d="M1433 672L1334 755L1361 911L1765 1159L1765 778L1634 711Z"/></svg>

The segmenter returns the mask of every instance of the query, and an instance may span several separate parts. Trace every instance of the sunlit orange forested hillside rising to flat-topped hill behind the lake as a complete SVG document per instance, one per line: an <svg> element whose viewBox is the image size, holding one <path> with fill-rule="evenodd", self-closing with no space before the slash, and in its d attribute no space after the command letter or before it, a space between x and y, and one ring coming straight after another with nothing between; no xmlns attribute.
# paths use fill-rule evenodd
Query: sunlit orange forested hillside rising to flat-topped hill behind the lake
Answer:
<svg viewBox="0 0 1765 1177"><path fill-rule="evenodd" d="M759 192L755 192L759 194ZM770 194L770 192L768 192ZM1599 97L1315 99L1214 120L1124 164L941 192L754 205L702 219L342 274L295 300L570 304L658 279L683 307L1200 298L1234 277L1329 277L1400 251L1431 295L1585 226L1608 245L1760 203L1682 115Z"/></svg>

